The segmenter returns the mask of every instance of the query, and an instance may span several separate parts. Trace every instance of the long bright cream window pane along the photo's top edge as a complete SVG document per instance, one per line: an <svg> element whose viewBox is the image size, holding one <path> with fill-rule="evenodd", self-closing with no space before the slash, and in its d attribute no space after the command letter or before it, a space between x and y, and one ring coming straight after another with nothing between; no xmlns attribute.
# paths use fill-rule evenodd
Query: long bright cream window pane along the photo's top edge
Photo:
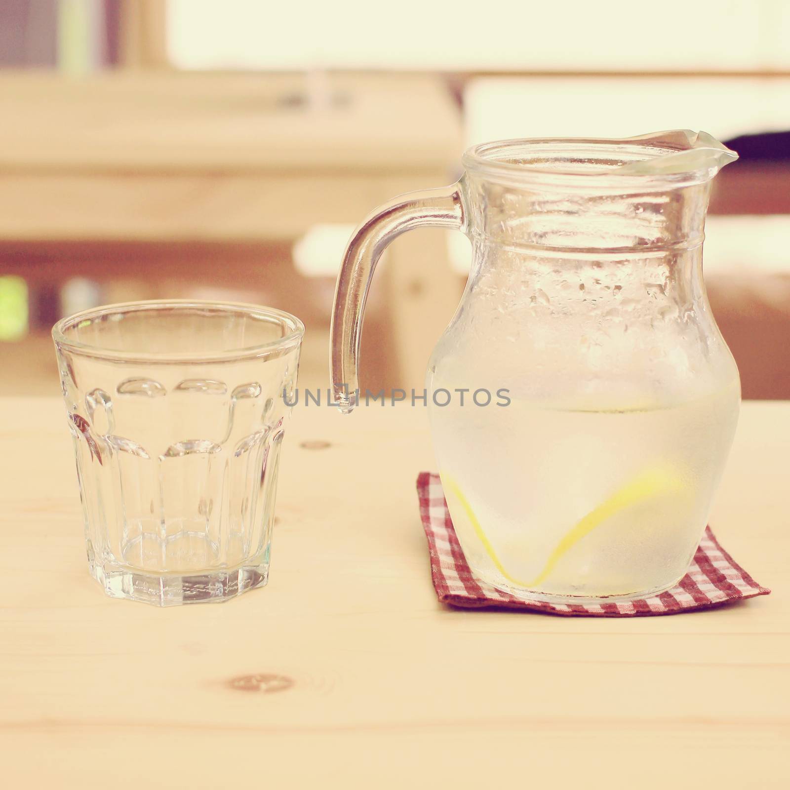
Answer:
<svg viewBox="0 0 790 790"><path fill-rule="evenodd" d="M167 3L167 50L182 69L782 70L788 37L784 0Z"/></svg>

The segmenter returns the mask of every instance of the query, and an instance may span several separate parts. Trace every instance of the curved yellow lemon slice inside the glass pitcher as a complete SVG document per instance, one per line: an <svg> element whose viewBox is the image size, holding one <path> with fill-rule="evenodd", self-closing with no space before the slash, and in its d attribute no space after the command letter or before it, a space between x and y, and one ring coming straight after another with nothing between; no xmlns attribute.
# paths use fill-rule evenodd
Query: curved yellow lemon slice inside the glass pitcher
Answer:
<svg viewBox="0 0 790 790"><path fill-rule="evenodd" d="M624 510L626 507L643 502L645 499L683 490L683 480L671 468L666 466L645 469L644 472L634 477L633 480L619 488L608 499L601 502L600 505L590 510L585 517L577 521L576 525L562 536L562 540L559 541L559 544L556 545L554 551L549 555L540 574L529 580L517 579L507 572L498 558L491 540L488 540L486 533L483 532L480 521L478 521L472 506L469 504L463 491L461 491L458 483L449 475L442 473L442 486L445 487L446 491L450 491L461 504L478 540L480 540L499 573L508 581L512 581L513 584L520 587L536 587L546 581L563 555L566 555L585 535L589 535L593 529L603 524L608 518L611 518L615 513L619 513L620 510Z"/></svg>

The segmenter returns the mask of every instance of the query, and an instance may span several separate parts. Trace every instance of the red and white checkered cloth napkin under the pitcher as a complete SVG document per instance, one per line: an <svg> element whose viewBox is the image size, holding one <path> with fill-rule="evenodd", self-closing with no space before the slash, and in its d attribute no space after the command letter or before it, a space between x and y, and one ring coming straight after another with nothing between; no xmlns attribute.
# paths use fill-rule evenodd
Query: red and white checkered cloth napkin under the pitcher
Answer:
<svg viewBox="0 0 790 790"><path fill-rule="evenodd" d="M419 514L423 519L428 551L431 553L431 576L442 604L464 608L506 607L544 611L554 615L591 617L634 617L636 615L675 615L693 609L705 609L733 600L767 595L770 590L758 585L722 547L710 531L694 554L688 573L675 587L651 598L625 603L545 604L519 600L507 592L478 579L466 564L461 544L455 535L447 510L442 481L431 472L417 478Z"/></svg>

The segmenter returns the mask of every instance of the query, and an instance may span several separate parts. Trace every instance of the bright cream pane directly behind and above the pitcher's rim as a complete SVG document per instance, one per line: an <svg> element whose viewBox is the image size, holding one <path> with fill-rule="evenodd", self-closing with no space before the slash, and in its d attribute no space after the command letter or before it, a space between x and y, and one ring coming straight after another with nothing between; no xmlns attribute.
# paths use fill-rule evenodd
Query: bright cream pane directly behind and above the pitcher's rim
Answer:
<svg viewBox="0 0 790 790"><path fill-rule="evenodd" d="M703 129L720 140L790 130L790 79L480 77L464 90L467 145L568 130L630 137L661 129Z"/></svg>

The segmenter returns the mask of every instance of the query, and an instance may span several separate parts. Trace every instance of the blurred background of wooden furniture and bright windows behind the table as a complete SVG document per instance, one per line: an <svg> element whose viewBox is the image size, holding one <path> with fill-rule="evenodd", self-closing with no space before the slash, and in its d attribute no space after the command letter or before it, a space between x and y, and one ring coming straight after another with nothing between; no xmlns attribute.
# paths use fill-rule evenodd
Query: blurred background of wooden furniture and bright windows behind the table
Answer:
<svg viewBox="0 0 790 790"><path fill-rule="evenodd" d="M58 393L49 329L234 299L307 325L327 386L344 244L502 137L690 128L737 150L705 275L743 395L790 397L790 2L0 0L0 394ZM386 253L363 386L423 386L460 234Z"/></svg>

